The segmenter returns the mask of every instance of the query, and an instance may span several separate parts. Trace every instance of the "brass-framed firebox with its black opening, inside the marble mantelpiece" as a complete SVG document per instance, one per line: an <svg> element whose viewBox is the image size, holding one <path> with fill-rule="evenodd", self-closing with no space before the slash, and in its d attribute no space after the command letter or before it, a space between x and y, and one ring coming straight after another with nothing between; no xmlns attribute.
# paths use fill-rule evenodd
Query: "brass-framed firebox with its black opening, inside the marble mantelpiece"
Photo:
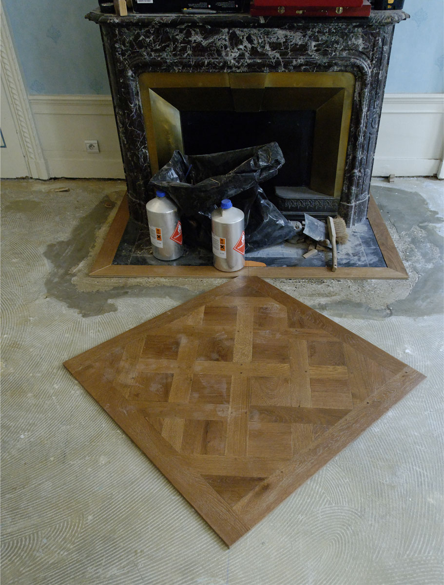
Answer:
<svg viewBox="0 0 444 585"><path fill-rule="evenodd" d="M175 149L207 154L277 141L285 164L263 185L269 198L284 214L295 197L322 203L311 205L315 215L338 212L351 73L142 73L139 87L153 173Z"/></svg>

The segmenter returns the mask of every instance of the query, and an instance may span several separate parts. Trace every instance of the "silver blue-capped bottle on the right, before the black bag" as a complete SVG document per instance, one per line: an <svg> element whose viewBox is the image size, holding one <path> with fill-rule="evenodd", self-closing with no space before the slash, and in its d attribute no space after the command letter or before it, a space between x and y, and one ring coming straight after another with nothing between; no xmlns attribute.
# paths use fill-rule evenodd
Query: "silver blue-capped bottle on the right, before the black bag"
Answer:
<svg viewBox="0 0 444 585"><path fill-rule="evenodd" d="M245 231L243 211L222 199L221 207L211 214L213 264L223 272L234 272L245 266Z"/></svg>

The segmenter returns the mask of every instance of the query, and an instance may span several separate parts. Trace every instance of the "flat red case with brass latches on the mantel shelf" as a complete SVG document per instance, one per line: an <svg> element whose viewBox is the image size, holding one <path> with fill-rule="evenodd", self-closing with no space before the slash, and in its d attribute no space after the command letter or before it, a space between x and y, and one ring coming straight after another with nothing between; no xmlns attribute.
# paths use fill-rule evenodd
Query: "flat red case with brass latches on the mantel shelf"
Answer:
<svg viewBox="0 0 444 585"><path fill-rule="evenodd" d="M272 1L276 2L276 4L270 5ZM336 0L335 6L325 6L326 2L329 1L331 0L322 0L324 6L302 8L301 6L293 5L291 0L280 0L279 4L278 0L268 0L269 4L267 6L257 5L256 0L254 0L250 5L250 14L252 16L312 16L318 18L320 16L370 16L371 5L369 0L360 0L361 6L336 6L338 0ZM291 5L289 6L289 4Z"/></svg>

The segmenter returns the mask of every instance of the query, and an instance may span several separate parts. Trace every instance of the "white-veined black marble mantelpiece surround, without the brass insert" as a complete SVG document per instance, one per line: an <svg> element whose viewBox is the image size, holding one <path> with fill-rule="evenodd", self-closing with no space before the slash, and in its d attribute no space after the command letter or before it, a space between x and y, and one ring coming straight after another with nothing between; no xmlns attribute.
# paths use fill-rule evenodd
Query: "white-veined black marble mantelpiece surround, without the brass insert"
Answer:
<svg viewBox="0 0 444 585"><path fill-rule="evenodd" d="M369 18L232 15L105 15L99 23L121 143L130 215L146 223L152 196L138 78L144 72L346 71L356 80L339 214L366 218L374 150L394 25L402 11Z"/></svg>

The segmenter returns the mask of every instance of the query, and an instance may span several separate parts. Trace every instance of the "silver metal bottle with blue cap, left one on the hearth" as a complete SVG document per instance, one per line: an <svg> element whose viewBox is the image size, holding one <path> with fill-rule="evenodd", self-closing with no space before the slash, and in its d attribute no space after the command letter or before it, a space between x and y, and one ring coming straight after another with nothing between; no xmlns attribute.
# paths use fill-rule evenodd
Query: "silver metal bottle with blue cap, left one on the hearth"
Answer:
<svg viewBox="0 0 444 585"><path fill-rule="evenodd" d="M182 256L182 225L177 207L163 191L146 204L146 215L153 245L153 255L159 260L175 260Z"/></svg>

